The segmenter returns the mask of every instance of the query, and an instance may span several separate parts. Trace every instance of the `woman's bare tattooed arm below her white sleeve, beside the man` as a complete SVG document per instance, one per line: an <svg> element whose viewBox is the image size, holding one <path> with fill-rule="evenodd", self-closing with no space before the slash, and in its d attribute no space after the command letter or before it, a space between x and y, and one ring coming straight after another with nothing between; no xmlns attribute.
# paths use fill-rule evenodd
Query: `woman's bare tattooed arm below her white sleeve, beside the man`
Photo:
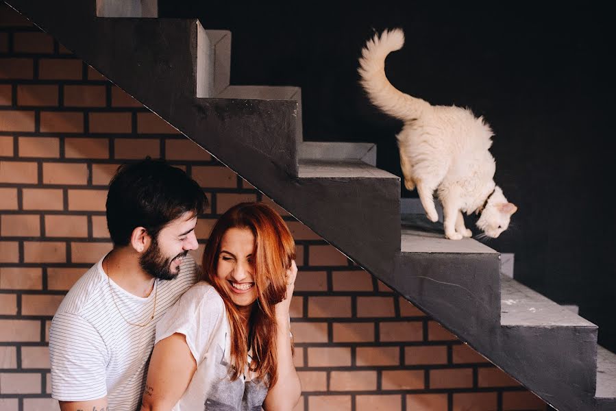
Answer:
<svg viewBox="0 0 616 411"><path fill-rule="evenodd" d="M182 397L197 370L184 334L175 333L154 346L141 400L141 411L169 411Z"/></svg>

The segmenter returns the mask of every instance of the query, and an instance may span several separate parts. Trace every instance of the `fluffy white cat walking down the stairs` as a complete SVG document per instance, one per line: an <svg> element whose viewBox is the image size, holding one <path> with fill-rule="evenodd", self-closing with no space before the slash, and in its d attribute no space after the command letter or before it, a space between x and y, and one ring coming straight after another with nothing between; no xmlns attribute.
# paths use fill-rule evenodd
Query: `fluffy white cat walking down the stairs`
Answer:
<svg viewBox="0 0 616 411"><path fill-rule="evenodd" d="M496 164L488 150L492 130L468 109L430 105L392 86L385 76L385 58L402 45L402 29L376 34L362 50L358 71L370 101L404 121L397 135L404 185L409 190L417 187L431 221L438 219L432 197L437 190L447 238L472 235L462 212L480 213L477 227L496 238L507 229L517 207L507 201L493 179Z"/></svg>

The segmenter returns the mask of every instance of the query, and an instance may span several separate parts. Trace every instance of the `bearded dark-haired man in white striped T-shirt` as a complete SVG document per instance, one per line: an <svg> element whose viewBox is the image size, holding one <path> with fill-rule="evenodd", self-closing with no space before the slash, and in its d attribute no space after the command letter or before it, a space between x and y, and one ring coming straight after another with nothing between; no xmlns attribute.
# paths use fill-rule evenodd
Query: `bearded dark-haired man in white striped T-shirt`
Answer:
<svg viewBox="0 0 616 411"><path fill-rule="evenodd" d="M187 253L207 206L199 185L162 160L118 169L107 196L113 249L51 322L51 395L62 411L138 408L156 323L195 282Z"/></svg>

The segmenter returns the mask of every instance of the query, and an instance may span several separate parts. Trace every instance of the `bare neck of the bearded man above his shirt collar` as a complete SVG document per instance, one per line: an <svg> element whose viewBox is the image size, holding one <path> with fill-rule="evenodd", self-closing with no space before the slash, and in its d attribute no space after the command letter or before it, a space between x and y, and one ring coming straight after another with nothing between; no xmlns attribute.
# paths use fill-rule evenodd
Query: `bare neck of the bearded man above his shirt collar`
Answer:
<svg viewBox="0 0 616 411"><path fill-rule="evenodd" d="M143 271L139 256L132 247L114 248L103 258L103 271L127 292L137 297L148 297L154 278Z"/></svg>

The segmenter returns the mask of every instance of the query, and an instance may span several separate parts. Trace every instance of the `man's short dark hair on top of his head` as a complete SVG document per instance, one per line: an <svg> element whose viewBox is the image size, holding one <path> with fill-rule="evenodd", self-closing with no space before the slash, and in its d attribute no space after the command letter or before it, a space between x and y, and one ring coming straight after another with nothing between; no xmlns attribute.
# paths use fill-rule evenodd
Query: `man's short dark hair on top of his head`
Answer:
<svg viewBox="0 0 616 411"><path fill-rule="evenodd" d="M107 227L116 246L125 246L136 227L152 238L185 212L202 214L208 199L199 184L164 160L146 158L119 166L109 184Z"/></svg>

